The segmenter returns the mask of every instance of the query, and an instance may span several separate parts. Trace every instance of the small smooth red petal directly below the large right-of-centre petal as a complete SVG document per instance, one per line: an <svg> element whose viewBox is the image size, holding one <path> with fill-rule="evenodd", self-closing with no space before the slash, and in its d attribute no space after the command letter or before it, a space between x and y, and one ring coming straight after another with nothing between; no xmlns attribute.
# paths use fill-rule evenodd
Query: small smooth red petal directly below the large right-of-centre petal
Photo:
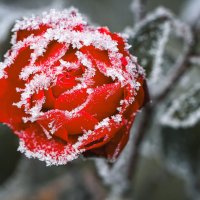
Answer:
<svg viewBox="0 0 200 200"><path fill-rule="evenodd" d="M84 130L93 130L98 120L85 111L68 117L66 127L69 135L81 134Z"/></svg>

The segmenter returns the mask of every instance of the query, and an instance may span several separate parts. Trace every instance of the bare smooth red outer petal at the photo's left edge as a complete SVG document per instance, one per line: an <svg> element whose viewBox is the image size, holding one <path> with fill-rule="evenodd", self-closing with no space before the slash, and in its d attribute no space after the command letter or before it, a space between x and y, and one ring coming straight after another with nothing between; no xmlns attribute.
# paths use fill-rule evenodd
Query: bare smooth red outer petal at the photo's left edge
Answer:
<svg viewBox="0 0 200 200"><path fill-rule="evenodd" d="M9 124L14 130L22 129L26 125L22 121L25 113L22 109L13 105L20 101L20 93L16 92L17 87L22 87L24 81L19 79L19 73L23 67L29 64L32 50L24 47L19 50L19 54L14 63L6 68L7 79L0 79L0 121Z"/></svg>

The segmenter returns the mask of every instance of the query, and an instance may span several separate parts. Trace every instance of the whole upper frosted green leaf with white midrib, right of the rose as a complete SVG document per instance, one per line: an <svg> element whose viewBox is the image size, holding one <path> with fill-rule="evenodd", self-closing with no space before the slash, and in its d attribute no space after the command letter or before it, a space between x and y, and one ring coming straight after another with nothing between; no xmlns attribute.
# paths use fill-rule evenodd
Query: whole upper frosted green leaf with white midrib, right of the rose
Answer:
<svg viewBox="0 0 200 200"><path fill-rule="evenodd" d="M158 8L126 33L131 52L146 69L151 94L157 96L171 84L171 77L187 55L192 42L190 27L167 9Z"/></svg>

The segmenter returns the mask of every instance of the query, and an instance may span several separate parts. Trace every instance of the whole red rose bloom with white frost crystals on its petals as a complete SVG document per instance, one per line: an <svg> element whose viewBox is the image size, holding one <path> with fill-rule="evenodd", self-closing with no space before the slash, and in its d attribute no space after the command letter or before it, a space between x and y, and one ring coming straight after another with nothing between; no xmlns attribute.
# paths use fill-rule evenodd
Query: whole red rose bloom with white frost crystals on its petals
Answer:
<svg viewBox="0 0 200 200"><path fill-rule="evenodd" d="M0 64L0 121L19 150L47 165L84 156L114 160L147 97L125 39L74 10L25 18Z"/></svg>

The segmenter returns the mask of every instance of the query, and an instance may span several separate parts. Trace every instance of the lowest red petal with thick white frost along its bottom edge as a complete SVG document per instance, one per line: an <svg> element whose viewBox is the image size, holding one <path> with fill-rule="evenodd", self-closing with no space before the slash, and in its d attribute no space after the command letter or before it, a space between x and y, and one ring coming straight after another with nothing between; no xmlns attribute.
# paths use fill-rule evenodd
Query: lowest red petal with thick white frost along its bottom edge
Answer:
<svg viewBox="0 0 200 200"><path fill-rule="evenodd" d="M70 143L66 144L55 138L48 139L37 124L32 124L18 135L21 143L19 150L28 157L46 161L47 165L66 164L80 154Z"/></svg>

